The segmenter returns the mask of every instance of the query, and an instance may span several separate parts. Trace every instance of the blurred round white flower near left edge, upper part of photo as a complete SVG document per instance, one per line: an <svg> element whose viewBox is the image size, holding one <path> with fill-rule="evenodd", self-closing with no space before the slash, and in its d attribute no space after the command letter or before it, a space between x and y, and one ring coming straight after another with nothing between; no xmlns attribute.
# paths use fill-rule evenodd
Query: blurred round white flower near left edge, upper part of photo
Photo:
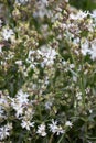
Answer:
<svg viewBox="0 0 96 143"><path fill-rule="evenodd" d="M13 35L13 30L11 29L3 29L2 30L2 37L8 41L9 38L11 38L11 36Z"/></svg>

